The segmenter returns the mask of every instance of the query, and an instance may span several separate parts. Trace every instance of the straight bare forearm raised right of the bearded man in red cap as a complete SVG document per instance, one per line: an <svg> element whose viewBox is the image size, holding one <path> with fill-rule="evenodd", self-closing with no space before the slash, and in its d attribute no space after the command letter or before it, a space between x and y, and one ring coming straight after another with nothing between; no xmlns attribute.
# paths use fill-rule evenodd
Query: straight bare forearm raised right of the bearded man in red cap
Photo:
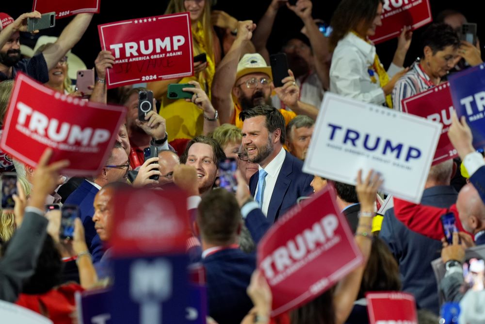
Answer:
<svg viewBox="0 0 485 324"><path fill-rule="evenodd" d="M76 15L76 17L65 26L57 41L42 51L49 70L55 67L57 62L59 62L59 60L80 41L92 18L93 14L88 13Z"/></svg>

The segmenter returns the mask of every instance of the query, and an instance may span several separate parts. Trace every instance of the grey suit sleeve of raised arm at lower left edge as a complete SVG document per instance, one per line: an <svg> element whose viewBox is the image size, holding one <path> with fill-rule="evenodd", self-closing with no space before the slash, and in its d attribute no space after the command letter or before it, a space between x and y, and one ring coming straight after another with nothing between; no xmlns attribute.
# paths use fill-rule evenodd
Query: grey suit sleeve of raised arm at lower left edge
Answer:
<svg viewBox="0 0 485 324"><path fill-rule="evenodd" d="M15 302L23 282L32 276L37 258L47 235L48 220L32 211L25 213L24 221L0 259L0 299Z"/></svg>

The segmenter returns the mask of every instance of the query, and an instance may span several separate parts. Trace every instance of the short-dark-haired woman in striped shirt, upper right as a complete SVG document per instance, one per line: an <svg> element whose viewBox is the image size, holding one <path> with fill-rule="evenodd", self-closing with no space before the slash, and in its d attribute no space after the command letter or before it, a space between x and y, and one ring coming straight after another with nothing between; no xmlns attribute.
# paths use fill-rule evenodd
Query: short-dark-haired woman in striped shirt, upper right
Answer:
<svg viewBox="0 0 485 324"><path fill-rule="evenodd" d="M453 28L444 23L430 25L421 35L421 46L421 57L392 90L394 107L400 111L403 99L439 85L462 58L471 66L482 63L480 51L468 42L460 42Z"/></svg>

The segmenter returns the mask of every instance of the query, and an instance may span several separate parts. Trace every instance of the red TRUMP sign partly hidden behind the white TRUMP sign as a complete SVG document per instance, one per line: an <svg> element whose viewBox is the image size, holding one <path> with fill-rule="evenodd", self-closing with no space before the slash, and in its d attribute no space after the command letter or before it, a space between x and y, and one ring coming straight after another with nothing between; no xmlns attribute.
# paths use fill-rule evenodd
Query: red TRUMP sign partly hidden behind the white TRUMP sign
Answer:
<svg viewBox="0 0 485 324"><path fill-rule="evenodd" d="M454 111L448 82L403 99L402 105L405 113L434 120L443 125L432 165L458 156L448 137Z"/></svg>

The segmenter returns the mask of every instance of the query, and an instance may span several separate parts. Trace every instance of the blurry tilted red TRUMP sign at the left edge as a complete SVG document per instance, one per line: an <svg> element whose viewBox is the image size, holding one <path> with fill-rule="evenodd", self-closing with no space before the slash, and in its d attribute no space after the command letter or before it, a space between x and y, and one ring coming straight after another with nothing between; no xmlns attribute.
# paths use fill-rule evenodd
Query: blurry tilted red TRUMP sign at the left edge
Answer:
<svg viewBox="0 0 485 324"><path fill-rule="evenodd" d="M61 94L18 74L3 122L0 148L32 167L46 148L68 159L66 175L94 175L111 153L125 109Z"/></svg>

